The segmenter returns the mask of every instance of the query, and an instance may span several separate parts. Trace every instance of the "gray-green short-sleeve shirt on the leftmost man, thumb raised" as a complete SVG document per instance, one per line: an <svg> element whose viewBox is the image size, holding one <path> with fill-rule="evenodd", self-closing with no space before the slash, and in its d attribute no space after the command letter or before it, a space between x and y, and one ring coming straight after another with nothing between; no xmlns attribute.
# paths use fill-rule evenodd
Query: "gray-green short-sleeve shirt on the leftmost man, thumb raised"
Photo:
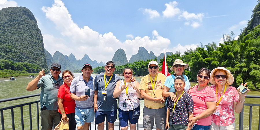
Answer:
<svg viewBox="0 0 260 130"><path fill-rule="evenodd" d="M48 110L58 109L57 93L60 86L63 84L63 80L58 76L58 79L54 79L51 74L42 76L37 83L37 89L41 87L40 104L41 108L46 107Z"/></svg>

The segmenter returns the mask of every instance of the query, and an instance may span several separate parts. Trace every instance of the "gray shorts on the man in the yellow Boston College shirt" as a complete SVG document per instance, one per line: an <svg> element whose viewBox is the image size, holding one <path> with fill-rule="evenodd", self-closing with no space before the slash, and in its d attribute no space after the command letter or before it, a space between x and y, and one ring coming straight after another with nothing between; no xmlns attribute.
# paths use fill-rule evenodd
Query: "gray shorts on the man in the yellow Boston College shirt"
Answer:
<svg viewBox="0 0 260 130"><path fill-rule="evenodd" d="M159 109L150 109L144 106L143 109L143 127L146 130L153 129L153 124L155 122L156 128L164 130L166 124L166 111L165 107Z"/></svg>

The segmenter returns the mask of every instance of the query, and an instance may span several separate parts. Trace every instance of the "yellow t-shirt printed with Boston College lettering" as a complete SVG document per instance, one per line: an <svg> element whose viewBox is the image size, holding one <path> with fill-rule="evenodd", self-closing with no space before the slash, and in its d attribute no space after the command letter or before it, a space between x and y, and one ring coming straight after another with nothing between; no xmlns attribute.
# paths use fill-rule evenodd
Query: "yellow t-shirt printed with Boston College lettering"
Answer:
<svg viewBox="0 0 260 130"><path fill-rule="evenodd" d="M158 97L162 97L162 92L164 89L164 81L166 79L166 76L162 73L157 73L157 78L155 81L155 77L152 78L153 84L155 83L154 86L154 93L155 96ZM151 97L155 97L153 94L153 87L152 87L152 83L151 83L151 78L150 78L150 74L142 77L140 85L139 85L139 89L140 90L145 90L145 93L148 94ZM159 109L165 106L165 103L155 103L153 101L149 101L144 99L144 106L151 108L151 109Z"/></svg>

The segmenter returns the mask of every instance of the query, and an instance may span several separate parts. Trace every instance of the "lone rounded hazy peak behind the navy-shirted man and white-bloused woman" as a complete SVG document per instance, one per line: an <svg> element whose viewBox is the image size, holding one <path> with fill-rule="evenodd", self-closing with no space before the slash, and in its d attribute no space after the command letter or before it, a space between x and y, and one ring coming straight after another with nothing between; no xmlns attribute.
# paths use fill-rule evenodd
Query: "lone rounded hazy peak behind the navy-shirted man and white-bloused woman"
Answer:
<svg viewBox="0 0 260 130"><path fill-rule="evenodd" d="M121 65L127 64L128 61L127 61L125 51L121 48L118 49L116 51L116 53L114 54L112 62L114 62L116 64L116 66L121 66Z"/></svg>

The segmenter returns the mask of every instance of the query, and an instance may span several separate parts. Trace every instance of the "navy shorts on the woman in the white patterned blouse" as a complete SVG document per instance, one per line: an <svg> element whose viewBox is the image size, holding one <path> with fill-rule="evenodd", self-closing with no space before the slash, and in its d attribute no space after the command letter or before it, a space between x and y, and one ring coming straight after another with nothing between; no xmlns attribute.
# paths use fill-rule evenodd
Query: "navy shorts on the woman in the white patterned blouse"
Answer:
<svg viewBox="0 0 260 130"><path fill-rule="evenodd" d="M138 107L140 109L140 105ZM137 109L138 109L138 107L137 107ZM121 127L128 126L128 120L129 120L130 124L136 124L138 122L138 119L132 119L132 117L133 117L133 110L123 111L120 108L118 108L118 118L119 118Z"/></svg>

